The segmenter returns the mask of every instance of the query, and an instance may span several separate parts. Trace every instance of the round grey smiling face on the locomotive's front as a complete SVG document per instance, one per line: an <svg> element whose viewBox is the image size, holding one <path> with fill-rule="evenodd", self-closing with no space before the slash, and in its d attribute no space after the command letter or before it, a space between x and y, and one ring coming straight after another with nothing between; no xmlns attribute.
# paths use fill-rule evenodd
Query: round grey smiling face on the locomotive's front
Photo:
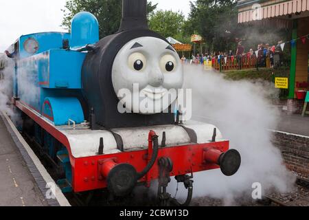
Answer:
<svg viewBox="0 0 309 220"><path fill-rule="evenodd" d="M176 90L183 86L183 67L168 43L140 37L119 50L112 79L115 93L128 111L161 113L176 100Z"/></svg>

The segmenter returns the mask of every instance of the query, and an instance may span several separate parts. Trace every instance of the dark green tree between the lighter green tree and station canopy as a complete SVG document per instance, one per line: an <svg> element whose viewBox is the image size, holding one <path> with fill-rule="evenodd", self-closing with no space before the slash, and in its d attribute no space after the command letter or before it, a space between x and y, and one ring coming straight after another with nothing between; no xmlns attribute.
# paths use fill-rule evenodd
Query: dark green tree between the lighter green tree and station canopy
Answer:
<svg viewBox="0 0 309 220"><path fill-rule="evenodd" d="M239 30L238 10L235 0L196 0L191 2L185 32L203 36L210 50L227 50L235 44Z"/></svg>

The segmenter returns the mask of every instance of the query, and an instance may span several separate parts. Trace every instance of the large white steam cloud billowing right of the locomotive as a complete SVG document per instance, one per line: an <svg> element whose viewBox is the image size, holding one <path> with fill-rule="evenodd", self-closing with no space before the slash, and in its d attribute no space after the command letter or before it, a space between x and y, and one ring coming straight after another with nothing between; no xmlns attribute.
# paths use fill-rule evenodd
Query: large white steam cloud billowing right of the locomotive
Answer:
<svg viewBox="0 0 309 220"><path fill-rule="evenodd" d="M279 149L271 143L279 112L268 98L274 95L270 83L225 80L221 74L205 72L203 67L185 65L186 89L192 89L193 120L218 126L230 148L242 155L242 166L232 177L220 170L209 170L194 177L194 197L225 199L234 204L238 197L251 198L252 184L262 191L286 192L295 182L284 166ZM173 192L175 185L169 188ZM185 190L180 197L185 197Z"/></svg>

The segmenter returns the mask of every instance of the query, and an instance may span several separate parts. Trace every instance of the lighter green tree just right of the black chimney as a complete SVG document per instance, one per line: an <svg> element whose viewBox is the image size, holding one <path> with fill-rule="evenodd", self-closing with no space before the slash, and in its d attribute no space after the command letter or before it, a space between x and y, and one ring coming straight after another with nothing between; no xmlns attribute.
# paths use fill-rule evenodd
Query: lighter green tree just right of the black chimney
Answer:
<svg viewBox="0 0 309 220"><path fill-rule="evenodd" d="M159 10L150 14L149 28L164 37L179 38L179 36L182 36L184 22L185 17L182 12Z"/></svg>

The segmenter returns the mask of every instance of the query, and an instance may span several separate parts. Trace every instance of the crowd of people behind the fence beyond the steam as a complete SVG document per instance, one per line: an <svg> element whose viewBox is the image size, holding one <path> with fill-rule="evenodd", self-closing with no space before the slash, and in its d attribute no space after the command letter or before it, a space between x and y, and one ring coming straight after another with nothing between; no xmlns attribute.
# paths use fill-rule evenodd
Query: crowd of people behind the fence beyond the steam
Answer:
<svg viewBox="0 0 309 220"><path fill-rule="evenodd" d="M253 50L252 48L249 52L245 52L244 46L242 42L238 43L238 47L236 53L233 54L232 50L229 52L213 52L211 54L192 54L191 59L185 58L183 55L181 61L183 63L187 63L188 61L190 64L205 64L205 61L218 61L220 63L222 59L225 60L227 63L227 59L230 59L232 62L236 61L238 65L238 69L242 69L242 63L244 60L247 59L256 59L256 66L259 67L279 67L282 62L282 47L280 46L282 41L279 41L277 45L270 45L269 43L260 43L257 47L258 50Z"/></svg>

